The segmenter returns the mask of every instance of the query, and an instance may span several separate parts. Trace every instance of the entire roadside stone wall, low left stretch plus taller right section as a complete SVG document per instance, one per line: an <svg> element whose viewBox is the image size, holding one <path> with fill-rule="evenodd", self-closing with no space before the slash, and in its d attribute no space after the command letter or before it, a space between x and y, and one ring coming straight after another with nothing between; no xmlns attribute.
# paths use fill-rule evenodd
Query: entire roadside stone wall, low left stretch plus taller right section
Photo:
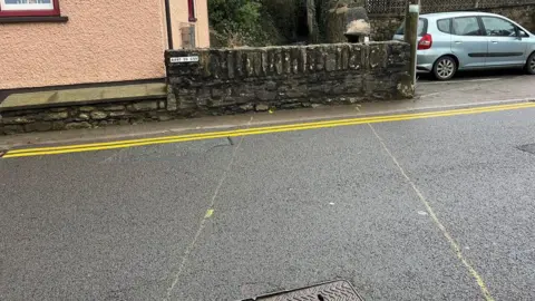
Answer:
<svg viewBox="0 0 535 301"><path fill-rule="evenodd" d="M193 62L171 62L197 57ZM401 42L169 50L167 97L0 111L0 134L412 97Z"/></svg>

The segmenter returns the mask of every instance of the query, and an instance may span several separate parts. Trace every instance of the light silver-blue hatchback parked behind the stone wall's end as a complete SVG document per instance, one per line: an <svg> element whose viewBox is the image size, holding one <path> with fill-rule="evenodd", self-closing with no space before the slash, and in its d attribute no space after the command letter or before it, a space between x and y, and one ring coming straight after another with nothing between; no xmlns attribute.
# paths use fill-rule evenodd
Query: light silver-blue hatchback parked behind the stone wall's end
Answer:
<svg viewBox="0 0 535 301"><path fill-rule="evenodd" d="M403 40L403 26L393 36ZM494 13L421 14L418 23L418 66L439 80L458 70L525 68L535 75L535 35Z"/></svg>

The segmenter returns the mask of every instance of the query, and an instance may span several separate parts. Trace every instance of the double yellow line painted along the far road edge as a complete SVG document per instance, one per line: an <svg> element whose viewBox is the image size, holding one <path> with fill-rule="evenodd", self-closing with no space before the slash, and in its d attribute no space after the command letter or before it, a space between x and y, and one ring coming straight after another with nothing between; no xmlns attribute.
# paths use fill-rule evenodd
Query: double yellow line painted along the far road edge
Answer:
<svg viewBox="0 0 535 301"><path fill-rule="evenodd" d="M522 109L522 108L532 108L532 107L535 107L535 103L521 103L521 104L512 104L512 105L474 107L474 108L466 108L466 109L451 109L451 110L441 110L441 111L400 114L400 115L389 115L389 116L360 117L360 118L339 119L339 120L329 120L329 122L302 123L302 124L255 127L255 128L244 128L244 129L234 129L234 130L224 130L224 132L211 132L211 133L202 133L202 134L188 134L188 135L179 135L179 136L158 137L158 138L118 140L118 142L109 142L109 143L91 143L91 144L56 146L56 147L25 148L25 149L9 151L3 156L3 158L58 155L58 154L68 154L68 153L80 153L80 152L114 149L114 148L124 148L124 147L133 147L133 146L144 146L144 145L153 145L153 144L193 142L193 140L202 140L202 139L250 136L250 135L261 135L261 134L270 134L270 133L314 129L314 128L329 128L329 127L361 125L361 124L376 124L376 123L414 120L414 119L434 118L434 117L470 115L470 114Z"/></svg>

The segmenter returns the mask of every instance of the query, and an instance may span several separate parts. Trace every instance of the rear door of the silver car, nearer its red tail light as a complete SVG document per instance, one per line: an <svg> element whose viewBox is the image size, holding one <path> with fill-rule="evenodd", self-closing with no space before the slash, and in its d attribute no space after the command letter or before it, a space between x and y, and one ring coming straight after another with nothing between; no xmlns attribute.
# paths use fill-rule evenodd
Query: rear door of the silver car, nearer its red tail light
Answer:
<svg viewBox="0 0 535 301"><path fill-rule="evenodd" d="M451 52L459 59L459 69L484 68L488 41L477 17L454 18L451 31Z"/></svg>

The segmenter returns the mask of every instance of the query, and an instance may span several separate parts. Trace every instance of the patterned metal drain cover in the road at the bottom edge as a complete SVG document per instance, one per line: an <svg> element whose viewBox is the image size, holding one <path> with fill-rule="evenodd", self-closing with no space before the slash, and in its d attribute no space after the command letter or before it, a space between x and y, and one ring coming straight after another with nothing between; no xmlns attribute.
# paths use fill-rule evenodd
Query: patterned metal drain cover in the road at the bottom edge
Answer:
<svg viewBox="0 0 535 301"><path fill-rule="evenodd" d="M272 293L243 301L363 301L347 281L340 280L303 289Z"/></svg>

